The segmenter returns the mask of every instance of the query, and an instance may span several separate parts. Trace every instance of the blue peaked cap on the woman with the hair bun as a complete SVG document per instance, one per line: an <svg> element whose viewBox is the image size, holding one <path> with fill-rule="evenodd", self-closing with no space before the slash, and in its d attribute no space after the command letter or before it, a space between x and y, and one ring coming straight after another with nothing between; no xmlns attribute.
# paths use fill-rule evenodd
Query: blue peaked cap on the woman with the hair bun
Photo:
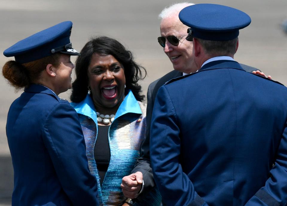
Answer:
<svg viewBox="0 0 287 206"><path fill-rule="evenodd" d="M80 55L72 48L70 35L73 23L64 21L48 29L42 30L32 36L18 41L4 51L4 56L14 56L19 63L32 62L53 53Z"/></svg>

